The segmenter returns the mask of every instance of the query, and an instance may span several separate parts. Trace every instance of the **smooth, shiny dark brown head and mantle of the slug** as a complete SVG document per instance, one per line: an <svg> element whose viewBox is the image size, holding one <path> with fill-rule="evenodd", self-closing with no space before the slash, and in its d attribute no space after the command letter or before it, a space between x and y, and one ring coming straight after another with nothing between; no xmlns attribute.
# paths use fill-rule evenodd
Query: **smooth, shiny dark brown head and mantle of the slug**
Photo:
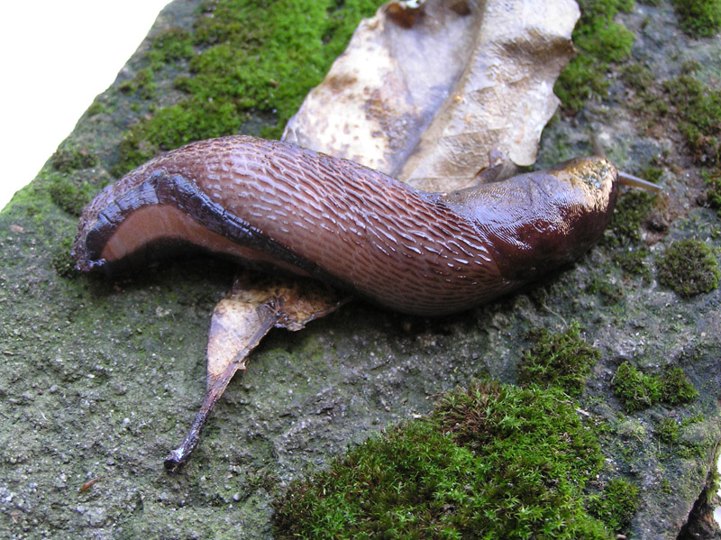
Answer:
<svg viewBox="0 0 721 540"><path fill-rule="evenodd" d="M441 197L470 219L492 246L504 279L538 279L576 261L598 242L611 219L616 168L599 157Z"/></svg>

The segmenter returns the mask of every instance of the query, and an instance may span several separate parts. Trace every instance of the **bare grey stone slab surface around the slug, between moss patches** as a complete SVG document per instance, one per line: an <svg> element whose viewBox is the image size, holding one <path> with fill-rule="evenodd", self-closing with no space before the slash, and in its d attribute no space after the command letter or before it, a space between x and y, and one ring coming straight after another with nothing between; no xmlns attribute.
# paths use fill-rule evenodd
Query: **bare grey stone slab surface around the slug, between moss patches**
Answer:
<svg viewBox="0 0 721 540"><path fill-rule="evenodd" d="M195 7L169 5L151 34L189 27ZM718 41L680 34L669 5L642 5L621 20L636 32L634 59L658 77L673 77L691 58L707 60L708 77L721 71ZM147 47L101 96L109 112L85 115L70 135L98 156L82 178L109 177L105 164L136 117L117 85L143 66ZM703 178L680 137L646 129L618 73L609 76L609 99L546 130L540 165L589 153L594 137L632 173L662 156L672 221L668 233L646 235L650 277L624 273L600 247L546 283L458 316L415 318L357 303L297 334L273 332L176 476L163 471L162 459L202 401L209 317L233 268L194 260L132 279L60 276L62 243L76 219L47 197L48 165L0 213L0 537L270 538L275 490L388 423L424 414L439 392L479 376L514 381L528 330L577 320L602 353L582 403L607 426L605 474L641 487L634 537L675 538L721 440L721 291L682 300L659 287L653 268L676 239L717 249L721 228L714 212L696 204ZM165 83L156 82L161 93ZM620 300L589 292L594 279L617 288ZM625 360L649 371L680 365L700 395L689 407L626 415L611 392ZM688 452L659 443L660 419L698 413L682 434Z"/></svg>

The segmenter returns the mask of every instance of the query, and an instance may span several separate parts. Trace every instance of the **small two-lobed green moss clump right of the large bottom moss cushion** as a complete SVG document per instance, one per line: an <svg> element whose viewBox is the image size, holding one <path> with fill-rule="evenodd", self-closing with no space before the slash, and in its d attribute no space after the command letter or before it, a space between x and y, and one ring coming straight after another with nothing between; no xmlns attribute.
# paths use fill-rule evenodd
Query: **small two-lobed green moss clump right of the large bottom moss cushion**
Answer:
<svg viewBox="0 0 721 540"><path fill-rule="evenodd" d="M656 375L642 373L630 362L624 362L616 369L612 386L627 413L661 402L683 405L698 396L698 391L679 367L669 367Z"/></svg>

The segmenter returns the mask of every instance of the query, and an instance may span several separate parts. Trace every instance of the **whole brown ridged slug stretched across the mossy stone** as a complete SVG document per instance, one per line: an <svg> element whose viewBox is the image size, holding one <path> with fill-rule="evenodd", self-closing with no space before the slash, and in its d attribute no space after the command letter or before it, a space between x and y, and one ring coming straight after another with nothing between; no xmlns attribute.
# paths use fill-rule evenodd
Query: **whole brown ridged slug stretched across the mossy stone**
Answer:
<svg viewBox="0 0 721 540"><path fill-rule="evenodd" d="M244 136L194 142L108 186L80 218L79 270L190 243L417 315L477 306L576 260L617 196L602 158L451 194Z"/></svg>

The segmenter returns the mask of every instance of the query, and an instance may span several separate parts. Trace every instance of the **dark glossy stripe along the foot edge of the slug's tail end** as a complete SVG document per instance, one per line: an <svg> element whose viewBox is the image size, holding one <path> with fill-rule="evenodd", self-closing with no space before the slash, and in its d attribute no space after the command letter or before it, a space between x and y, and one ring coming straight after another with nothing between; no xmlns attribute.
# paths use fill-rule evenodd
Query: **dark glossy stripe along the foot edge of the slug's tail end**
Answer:
<svg viewBox="0 0 721 540"><path fill-rule="evenodd" d="M178 174L170 175L164 170L154 171L150 178L109 201L98 213L96 224L87 231L86 236L85 257L88 270L96 268L114 270L115 261L105 261L102 253L118 226L123 224L126 216L143 206L164 204L178 208L197 224L233 243L263 252L277 261L287 262L316 278L328 278L327 272L314 262L308 261L287 246L269 238L267 234L237 215L227 212L223 206L215 203L201 191L195 181ZM117 266L120 267L122 261L117 262Z"/></svg>

